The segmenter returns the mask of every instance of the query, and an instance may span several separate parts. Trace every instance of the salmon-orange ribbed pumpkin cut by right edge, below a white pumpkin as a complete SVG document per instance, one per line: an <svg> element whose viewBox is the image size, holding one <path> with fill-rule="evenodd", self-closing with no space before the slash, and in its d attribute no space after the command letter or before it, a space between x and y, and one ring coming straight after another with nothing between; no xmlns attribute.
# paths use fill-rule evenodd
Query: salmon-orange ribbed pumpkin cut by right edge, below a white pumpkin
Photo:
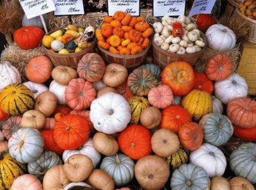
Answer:
<svg viewBox="0 0 256 190"><path fill-rule="evenodd" d="M256 126L256 101L250 98L235 98L228 102L227 115L231 122L241 128Z"/></svg>

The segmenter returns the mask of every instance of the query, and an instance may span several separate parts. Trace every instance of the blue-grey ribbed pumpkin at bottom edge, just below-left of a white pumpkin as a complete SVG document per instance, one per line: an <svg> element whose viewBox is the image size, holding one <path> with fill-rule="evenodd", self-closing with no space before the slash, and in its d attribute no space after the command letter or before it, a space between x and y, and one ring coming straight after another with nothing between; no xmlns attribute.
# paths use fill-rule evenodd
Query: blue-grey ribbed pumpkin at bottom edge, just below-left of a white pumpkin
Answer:
<svg viewBox="0 0 256 190"><path fill-rule="evenodd" d="M182 164L174 170L171 178L172 190L209 189L211 180L207 172L195 164Z"/></svg>

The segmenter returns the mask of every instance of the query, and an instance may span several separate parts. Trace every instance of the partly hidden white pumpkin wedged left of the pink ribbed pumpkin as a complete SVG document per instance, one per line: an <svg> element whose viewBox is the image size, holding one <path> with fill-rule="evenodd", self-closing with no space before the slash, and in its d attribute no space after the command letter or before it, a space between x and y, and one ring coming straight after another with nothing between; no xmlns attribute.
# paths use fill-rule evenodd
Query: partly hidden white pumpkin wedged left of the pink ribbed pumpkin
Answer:
<svg viewBox="0 0 256 190"><path fill-rule="evenodd" d="M52 92L58 99L58 103L61 105L67 105L66 99L65 99L65 90L67 88L67 85L62 85L56 80L52 80L49 91Z"/></svg>

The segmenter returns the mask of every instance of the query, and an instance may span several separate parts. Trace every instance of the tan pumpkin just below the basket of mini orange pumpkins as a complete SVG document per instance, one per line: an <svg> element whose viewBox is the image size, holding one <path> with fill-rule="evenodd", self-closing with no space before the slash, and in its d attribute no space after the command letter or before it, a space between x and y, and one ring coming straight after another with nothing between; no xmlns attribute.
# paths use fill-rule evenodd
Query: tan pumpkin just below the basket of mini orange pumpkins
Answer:
<svg viewBox="0 0 256 190"><path fill-rule="evenodd" d="M125 82L128 77L128 71L125 66L117 63L111 63L106 66L105 73L103 75L104 84L109 87L117 87Z"/></svg>

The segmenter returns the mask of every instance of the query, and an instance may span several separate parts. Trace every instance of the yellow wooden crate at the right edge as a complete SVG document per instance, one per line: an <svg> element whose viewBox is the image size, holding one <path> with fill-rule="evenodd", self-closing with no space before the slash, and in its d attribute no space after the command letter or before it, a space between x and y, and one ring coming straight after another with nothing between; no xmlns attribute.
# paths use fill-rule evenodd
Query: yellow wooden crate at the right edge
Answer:
<svg viewBox="0 0 256 190"><path fill-rule="evenodd" d="M248 94L256 94L256 43L241 40L241 59L237 73L245 78Z"/></svg>

